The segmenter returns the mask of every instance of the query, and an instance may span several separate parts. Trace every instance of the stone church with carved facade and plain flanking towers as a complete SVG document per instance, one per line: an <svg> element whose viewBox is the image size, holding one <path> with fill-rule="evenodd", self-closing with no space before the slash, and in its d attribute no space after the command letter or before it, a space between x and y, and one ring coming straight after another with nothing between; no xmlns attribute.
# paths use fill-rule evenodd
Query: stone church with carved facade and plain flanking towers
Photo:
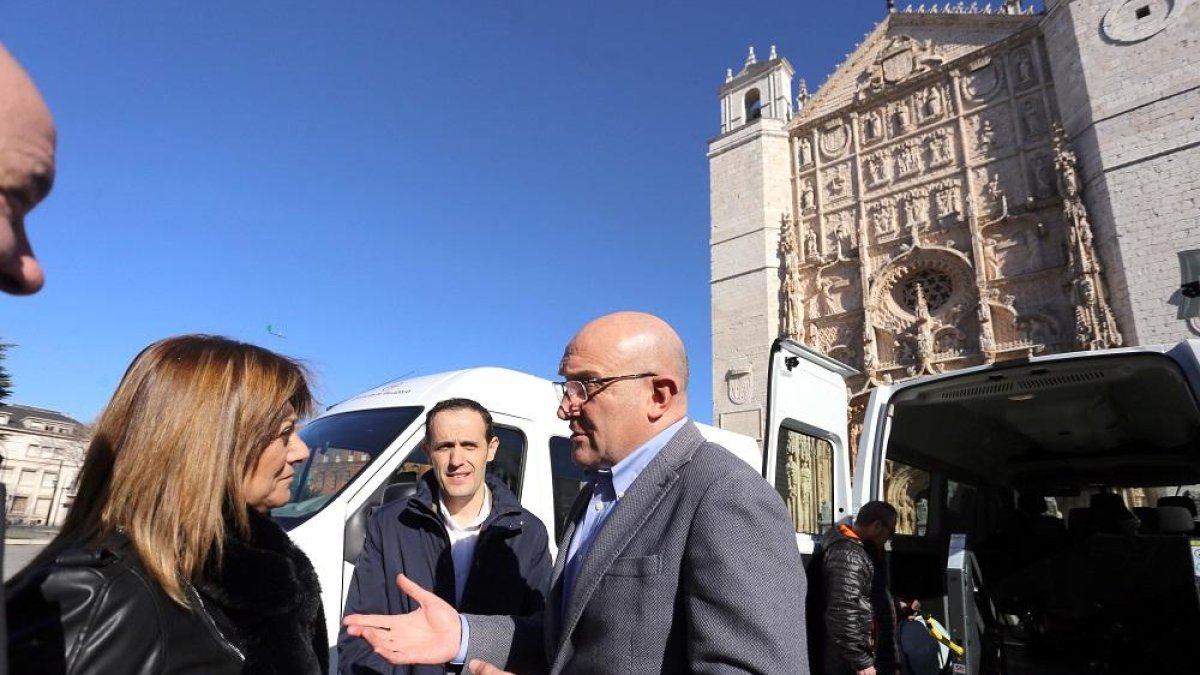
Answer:
<svg viewBox="0 0 1200 675"><path fill-rule="evenodd" d="M714 423L790 336L887 382L1195 336L1200 7L893 11L811 96L751 50L709 143Z"/></svg>

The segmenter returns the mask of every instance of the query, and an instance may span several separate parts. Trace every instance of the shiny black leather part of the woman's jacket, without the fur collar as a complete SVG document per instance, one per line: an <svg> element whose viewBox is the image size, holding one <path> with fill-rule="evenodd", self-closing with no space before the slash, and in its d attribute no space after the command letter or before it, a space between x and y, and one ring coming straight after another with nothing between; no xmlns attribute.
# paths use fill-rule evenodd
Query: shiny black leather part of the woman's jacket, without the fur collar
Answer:
<svg viewBox="0 0 1200 675"><path fill-rule="evenodd" d="M128 538L71 548L6 589L12 675L239 674L242 652L190 585L192 609L150 579Z"/></svg>

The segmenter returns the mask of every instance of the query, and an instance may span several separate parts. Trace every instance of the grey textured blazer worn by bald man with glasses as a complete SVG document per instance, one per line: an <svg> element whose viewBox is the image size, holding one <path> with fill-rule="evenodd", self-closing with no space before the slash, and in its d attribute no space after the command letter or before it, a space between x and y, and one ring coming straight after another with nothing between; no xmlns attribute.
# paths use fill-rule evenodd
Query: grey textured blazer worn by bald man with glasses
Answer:
<svg viewBox="0 0 1200 675"><path fill-rule="evenodd" d="M517 675L808 675L804 567L775 490L685 424L617 503L562 611L565 551L544 615L468 615L468 661Z"/></svg>

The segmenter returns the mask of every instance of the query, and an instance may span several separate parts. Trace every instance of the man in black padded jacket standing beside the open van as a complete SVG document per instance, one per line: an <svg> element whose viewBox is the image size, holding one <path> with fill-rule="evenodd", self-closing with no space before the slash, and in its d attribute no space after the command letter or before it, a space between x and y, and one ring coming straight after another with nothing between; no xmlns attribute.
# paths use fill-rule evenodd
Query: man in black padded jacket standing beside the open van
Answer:
<svg viewBox="0 0 1200 675"><path fill-rule="evenodd" d="M883 545L895 530L896 509L875 501L863 504L853 525L841 522L826 532L821 550L809 563L809 644L815 674L898 671L895 603L888 592L883 557Z"/></svg>

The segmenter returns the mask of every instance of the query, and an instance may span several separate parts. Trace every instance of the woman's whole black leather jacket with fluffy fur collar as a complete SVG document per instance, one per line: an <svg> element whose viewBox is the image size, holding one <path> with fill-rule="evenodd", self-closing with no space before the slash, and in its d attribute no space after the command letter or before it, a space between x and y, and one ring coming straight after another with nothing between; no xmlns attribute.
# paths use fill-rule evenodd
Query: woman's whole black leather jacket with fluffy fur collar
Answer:
<svg viewBox="0 0 1200 675"><path fill-rule="evenodd" d="M6 587L11 675L324 675L317 574L270 518L228 536L191 609L150 579L128 538L65 549Z"/></svg>

